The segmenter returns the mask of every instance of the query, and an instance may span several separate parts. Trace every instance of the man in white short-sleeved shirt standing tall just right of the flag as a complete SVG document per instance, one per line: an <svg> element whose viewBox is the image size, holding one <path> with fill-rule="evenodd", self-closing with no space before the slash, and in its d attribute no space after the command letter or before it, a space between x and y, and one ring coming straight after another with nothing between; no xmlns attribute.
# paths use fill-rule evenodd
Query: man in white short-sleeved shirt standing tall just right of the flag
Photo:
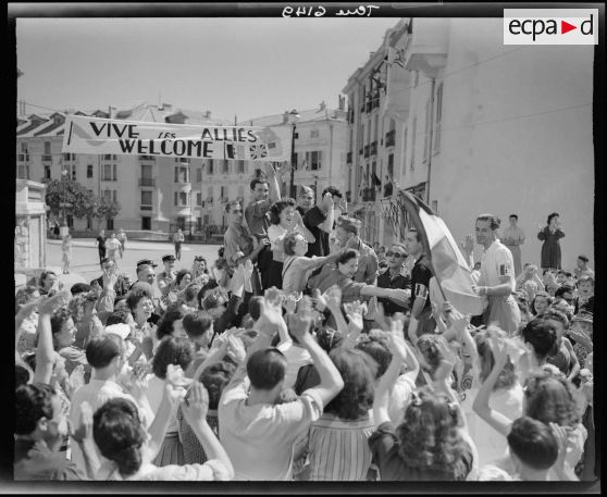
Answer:
<svg viewBox="0 0 607 497"><path fill-rule="evenodd" d="M512 297L516 289L512 252L499 241L499 219L493 214L481 214L476 218L476 244L483 246L484 252L479 286L474 286L473 289L488 299L484 322L496 323L512 335L521 323L521 313Z"/></svg>

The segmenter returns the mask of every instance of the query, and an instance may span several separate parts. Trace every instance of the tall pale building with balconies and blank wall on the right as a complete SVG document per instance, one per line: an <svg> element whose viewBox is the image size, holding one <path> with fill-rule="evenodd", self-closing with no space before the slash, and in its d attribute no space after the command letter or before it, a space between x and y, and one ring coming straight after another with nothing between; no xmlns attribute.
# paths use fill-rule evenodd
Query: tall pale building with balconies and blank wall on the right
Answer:
<svg viewBox="0 0 607 497"><path fill-rule="evenodd" d="M344 88L363 235L395 239L391 195L401 187L456 240L480 213L503 227L518 214L523 262L536 264L537 225L558 212L562 265L593 259L593 57L592 46L504 46L498 18L400 20Z"/></svg>

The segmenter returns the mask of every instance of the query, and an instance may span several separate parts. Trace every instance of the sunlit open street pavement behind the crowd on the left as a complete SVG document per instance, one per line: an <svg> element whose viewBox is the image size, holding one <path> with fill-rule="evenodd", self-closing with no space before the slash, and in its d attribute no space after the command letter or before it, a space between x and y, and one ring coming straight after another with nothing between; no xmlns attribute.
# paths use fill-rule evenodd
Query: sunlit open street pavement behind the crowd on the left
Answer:
<svg viewBox="0 0 607 497"><path fill-rule="evenodd" d="M91 238L75 238L72 240L72 261L70 274L61 274L62 258L61 240L47 240L47 269L54 271L64 287L70 287L74 283L90 281L101 275L99 265L99 253L97 241ZM175 261L175 270L190 269L195 256L202 256L209 265L218 259L219 245L182 245L182 260ZM123 259L117 259L119 273L127 273L132 281L137 279L137 261L140 259L152 259L157 264L157 271L163 270L162 257L171 253L175 254L173 244L166 241L136 241L128 240ZM23 279L23 282L21 282ZM24 284L25 276L16 274L15 284Z"/></svg>

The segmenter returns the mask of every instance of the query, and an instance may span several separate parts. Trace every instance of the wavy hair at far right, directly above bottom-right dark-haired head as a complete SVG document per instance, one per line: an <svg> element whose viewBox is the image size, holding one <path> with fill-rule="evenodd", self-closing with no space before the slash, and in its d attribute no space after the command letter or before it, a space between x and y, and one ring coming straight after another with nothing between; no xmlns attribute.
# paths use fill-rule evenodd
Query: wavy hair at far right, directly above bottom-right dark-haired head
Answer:
<svg viewBox="0 0 607 497"><path fill-rule="evenodd" d="M562 375L533 371L525 382L525 414L543 423L577 426L580 422L573 386Z"/></svg>

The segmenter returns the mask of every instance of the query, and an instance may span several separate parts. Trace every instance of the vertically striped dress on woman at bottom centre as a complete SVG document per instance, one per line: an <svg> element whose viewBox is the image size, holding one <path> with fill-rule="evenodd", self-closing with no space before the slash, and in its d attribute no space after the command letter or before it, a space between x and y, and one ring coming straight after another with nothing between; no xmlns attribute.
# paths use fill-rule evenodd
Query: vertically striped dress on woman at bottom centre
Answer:
<svg viewBox="0 0 607 497"><path fill-rule="evenodd" d="M366 481L371 465L368 439L374 431L373 411L354 421L321 415L310 427L309 480Z"/></svg>

